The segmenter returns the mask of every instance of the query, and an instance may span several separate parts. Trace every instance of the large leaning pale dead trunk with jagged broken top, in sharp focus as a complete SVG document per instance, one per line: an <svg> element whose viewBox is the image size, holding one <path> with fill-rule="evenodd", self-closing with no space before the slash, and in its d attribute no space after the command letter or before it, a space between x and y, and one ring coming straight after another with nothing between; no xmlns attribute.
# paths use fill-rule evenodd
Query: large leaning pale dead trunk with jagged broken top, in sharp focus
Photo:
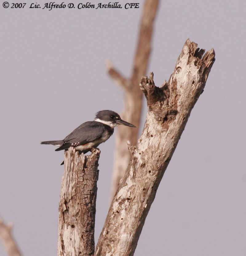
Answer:
<svg viewBox="0 0 246 256"><path fill-rule="evenodd" d="M215 61L188 39L168 83L161 88L143 77L140 87L148 106L141 137L129 145L132 158L110 206L95 256L133 255L158 185L190 112L202 93ZM203 56L203 57L202 57Z"/></svg>

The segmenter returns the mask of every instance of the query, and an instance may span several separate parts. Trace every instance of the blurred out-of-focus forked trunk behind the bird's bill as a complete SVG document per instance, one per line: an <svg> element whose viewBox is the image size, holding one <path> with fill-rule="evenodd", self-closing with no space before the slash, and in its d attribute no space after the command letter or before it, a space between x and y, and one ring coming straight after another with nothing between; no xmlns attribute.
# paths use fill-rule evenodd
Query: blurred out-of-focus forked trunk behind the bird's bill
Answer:
<svg viewBox="0 0 246 256"><path fill-rule="evenodd" d="M143 75L146 75L148 67L153 22L157 12L158 2L158 0L145 1L131 78L124 78L112 67L110 62L107 65L109 75L124 89L124 107L121 112L121 118L128 120L128 122L137 127L140 125L143 98L143 94L139 88L139 81ZM112 177L112 198L117 189L118 182L124 175L131 159L126 141L130 140L135 145L137 143L138 131L138 128L131 129L123 125L117 128L115 135L116 145Z"/></svg>

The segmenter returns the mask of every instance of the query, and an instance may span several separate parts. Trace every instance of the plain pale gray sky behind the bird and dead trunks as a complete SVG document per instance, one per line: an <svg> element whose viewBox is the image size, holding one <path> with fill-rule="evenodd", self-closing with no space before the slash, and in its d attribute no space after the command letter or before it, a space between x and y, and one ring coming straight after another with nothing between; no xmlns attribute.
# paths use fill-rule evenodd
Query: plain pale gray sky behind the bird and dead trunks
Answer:
<svg viewBox="0 0 246 256"><path fill-rule="evenodd" d="M143 3L49 11L29 9L28 1L24 9L4 9L2 2L0 215L14 222L23 255L56 255L63 153L39 142L63 139L98 110L121 112L122 92L105 59L130 75ZM148 70L156 85L169 79L187 38L214 48L216 61L136 256L246 255L245 12L245 1L161 1ZM146 107L142 126L145 115ZM113 147L114 136L99 147L96 240L108 210Z"/></svg>

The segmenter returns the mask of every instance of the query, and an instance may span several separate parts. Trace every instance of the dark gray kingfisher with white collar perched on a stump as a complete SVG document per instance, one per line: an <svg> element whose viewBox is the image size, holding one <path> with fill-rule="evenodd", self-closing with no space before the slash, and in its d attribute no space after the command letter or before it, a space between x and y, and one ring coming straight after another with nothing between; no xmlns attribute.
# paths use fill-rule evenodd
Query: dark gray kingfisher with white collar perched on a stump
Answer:
<svg viewBox="0 0 246 256"><path fill-rule="evenodd" d="M112 110L101 110L96 113L94 121L88 121L73 130L63 140L42 141L41 144L51 144L58 148L55 151L68 150L73 147L79 153L87 153L92 148L105 142L112 136L114 127L123 124L129 127L136 127L121 119L120 115ZM64 161L61 165L64 164Z"/></svg>

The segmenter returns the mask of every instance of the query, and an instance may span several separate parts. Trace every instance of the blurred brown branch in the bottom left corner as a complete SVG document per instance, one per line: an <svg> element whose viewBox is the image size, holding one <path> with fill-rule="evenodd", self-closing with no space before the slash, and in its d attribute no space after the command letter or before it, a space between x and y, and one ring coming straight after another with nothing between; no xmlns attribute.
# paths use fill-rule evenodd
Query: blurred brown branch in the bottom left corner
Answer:
<svg viewBox="0 0 246 256"><path fill-rule="evenodd" d="M21 256L16 242L11 234L12 225L6 225L0 217L0 239L9 256Z"/></svg>

